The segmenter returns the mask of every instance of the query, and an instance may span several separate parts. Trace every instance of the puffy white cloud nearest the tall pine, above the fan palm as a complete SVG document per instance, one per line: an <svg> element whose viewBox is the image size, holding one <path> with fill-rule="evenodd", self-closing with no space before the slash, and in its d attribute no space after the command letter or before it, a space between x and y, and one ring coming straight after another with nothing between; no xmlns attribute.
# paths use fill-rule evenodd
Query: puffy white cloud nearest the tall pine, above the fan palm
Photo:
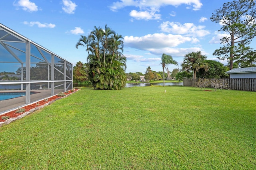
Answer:
<svg viewBox="0 0 256 170"><path fill-rule="evenodd" d="M205 30L203 25L194 25L194 23L184 23L183 25L178 22L166 21L160 25L161 31L167 33L184 34L191 37L204 37L210 34L208 30Z"/></svg>

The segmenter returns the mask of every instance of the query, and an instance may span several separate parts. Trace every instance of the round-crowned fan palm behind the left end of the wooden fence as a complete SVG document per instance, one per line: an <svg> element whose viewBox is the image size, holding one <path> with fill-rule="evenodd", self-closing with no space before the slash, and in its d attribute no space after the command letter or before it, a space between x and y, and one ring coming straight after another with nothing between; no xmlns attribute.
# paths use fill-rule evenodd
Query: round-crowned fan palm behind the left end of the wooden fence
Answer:
<svg viewBox="0 0 256 170"><path fill-rule="evenodd" d="M205 63L207 57L201 54L201 51L188 53L185 55L183 63L181 64L182 70L192 70L194 72L193 78L196 78L196 72L200 68L208 70L208 65Z"/></svg>

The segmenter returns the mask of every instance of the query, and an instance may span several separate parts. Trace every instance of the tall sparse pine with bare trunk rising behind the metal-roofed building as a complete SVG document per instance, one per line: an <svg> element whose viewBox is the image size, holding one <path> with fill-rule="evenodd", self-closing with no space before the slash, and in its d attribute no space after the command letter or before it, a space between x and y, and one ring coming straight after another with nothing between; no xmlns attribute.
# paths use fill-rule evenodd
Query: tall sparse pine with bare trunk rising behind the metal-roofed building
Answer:
<svg viewBox="0 0 256 170"><path fill-rule="evenodd" d="M255 0L233 0L224 3L215 10L210 17L211 21L220 23L219 31L229 33L221 39L223 47L216 49L213 55L218 59L228 59L230 70L233 69L233 61L238 60L250 49L246 47L256 36L256 2Z"/></svg>

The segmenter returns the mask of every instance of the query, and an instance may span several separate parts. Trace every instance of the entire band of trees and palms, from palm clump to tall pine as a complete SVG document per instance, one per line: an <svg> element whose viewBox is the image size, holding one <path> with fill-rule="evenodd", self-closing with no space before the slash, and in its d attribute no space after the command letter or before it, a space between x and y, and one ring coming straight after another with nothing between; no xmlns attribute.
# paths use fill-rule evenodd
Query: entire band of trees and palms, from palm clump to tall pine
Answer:
<svg viewBox="0 0 256 170"><path fill-rule="evenodd" d="M221 8L212 13L210 20L222 25L220 30L227 36L220 39L223 47L216 49L213 55L218 59L228 60L228 66L212 60L207 60L200 51L191 52L184 56L182 69L168 70L168 64L178 66L171 55L163 54L161 65L163 72L154 72L150 66L144 74L148 80L170 79L172 74L176 80L183 78L226 78L225 71L236 67L256 66L256 50L250 47L256 36L256 1L233 0L224 3ZM137 73L125 73L126 57L123 52L123 37L107 25L94 27L88 36L81 36L76 48L86 47L87 63L76 63L74 66L74 81L88 81L96 89L119 90L125 86L126 78L138 80ZM166 71L166 72L165 72Z"/></svg>

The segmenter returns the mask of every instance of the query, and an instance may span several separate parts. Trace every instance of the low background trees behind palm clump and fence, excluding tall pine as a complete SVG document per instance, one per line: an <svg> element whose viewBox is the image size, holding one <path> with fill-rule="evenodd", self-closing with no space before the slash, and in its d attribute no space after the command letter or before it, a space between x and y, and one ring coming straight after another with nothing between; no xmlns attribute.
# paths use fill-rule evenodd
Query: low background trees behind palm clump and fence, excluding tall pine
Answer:
<svg viewBox="0 0 256 170"><path fill-rule="evenodd" d="M214 61L207 60L205 55L201 52L188 53L181 64L182 68L174 68L172 71L154 71L148 66L144 73L142 72L128 72L126 73L127 80L140 81L140 76L144 76L146 81L151 80L178 80L182 81L183 78L228 78L228 66ZM77 62L73 70L74 82L80 84L88 84L88 64ZM167 70L167 69L166 69ZM164 76L163 76L164 75Z"/></svg>

